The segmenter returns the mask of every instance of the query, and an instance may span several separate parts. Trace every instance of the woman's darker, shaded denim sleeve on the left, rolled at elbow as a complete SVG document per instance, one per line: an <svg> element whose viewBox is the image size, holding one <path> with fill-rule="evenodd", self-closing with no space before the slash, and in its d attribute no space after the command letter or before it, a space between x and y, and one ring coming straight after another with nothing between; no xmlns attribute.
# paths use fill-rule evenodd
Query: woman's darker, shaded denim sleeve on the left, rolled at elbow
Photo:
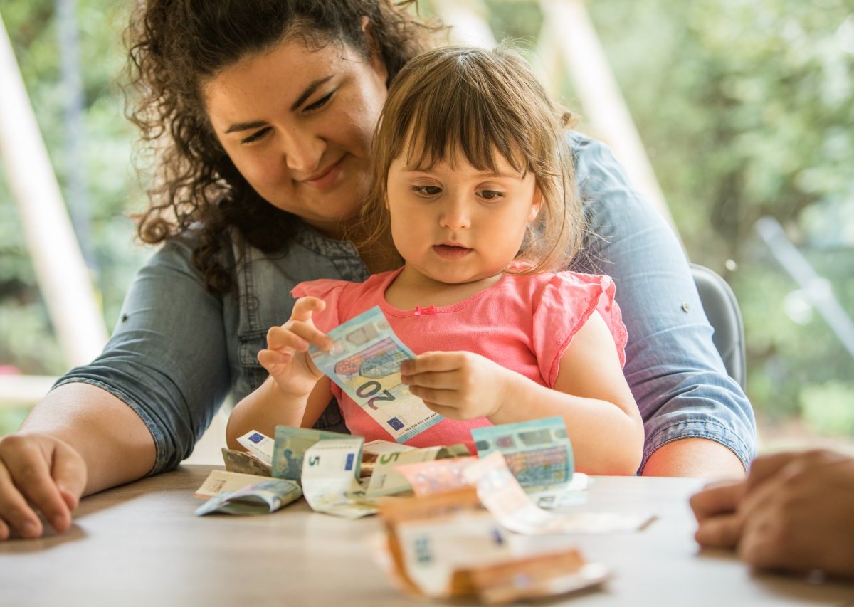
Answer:
<svg viewBox="0 0 854 607"><path fill-rule="evenodd" d="M56 383L84 382L123 400L156 446L149 474L190 456L231 388L223 300L205 289L182 242L167 242L137 273L118 324L90 365Z"/></svg>

